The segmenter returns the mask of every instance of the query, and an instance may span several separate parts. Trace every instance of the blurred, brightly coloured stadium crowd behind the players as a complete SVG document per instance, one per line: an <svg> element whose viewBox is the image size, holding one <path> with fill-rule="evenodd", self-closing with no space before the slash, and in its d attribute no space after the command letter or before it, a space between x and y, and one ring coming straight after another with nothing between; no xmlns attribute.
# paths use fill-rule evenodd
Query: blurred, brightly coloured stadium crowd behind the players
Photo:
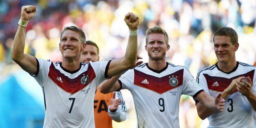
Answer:
<svg viewBox="0 0 256 128"><path fill-rule="evenodd" d="M236 59L247 64L256 61L255 0L3 0L0 71L14 64L11 49L23 5L37 7L26 27L25 52L43 59L61 61L60 33L71 25L82 28L86 40L99 46L100 60L122 57L129 35L124 15L133 12L140 16L139 55L144 62L148 62L145 32L152 26L163 27L169 35L167 61L187 67L194 77L200 69L216 63L212 36L223 26L238 33ZM181 106L184 127L199 126L193 120L197 118L188 117L197 115L193 101L183 98ZM195 114L185 115L190 111Z"/></svg>

